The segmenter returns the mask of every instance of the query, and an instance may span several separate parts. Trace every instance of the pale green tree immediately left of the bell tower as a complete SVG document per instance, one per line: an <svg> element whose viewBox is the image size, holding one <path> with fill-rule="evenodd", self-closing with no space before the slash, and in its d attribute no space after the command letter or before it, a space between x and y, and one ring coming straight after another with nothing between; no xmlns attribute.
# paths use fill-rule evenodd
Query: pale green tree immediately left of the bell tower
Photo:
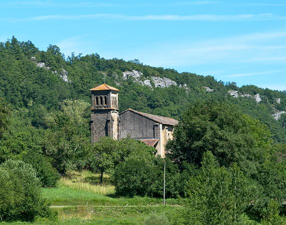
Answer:
<svg viewBox="0 0 286 225"><path fill-rule="evenodd" d="M81 169L87 164L89 103L66 99L60 106L60 111L45 118L49 129L44 136L44 152L54 159L54 167L65 174L69 169Z"/></svg>

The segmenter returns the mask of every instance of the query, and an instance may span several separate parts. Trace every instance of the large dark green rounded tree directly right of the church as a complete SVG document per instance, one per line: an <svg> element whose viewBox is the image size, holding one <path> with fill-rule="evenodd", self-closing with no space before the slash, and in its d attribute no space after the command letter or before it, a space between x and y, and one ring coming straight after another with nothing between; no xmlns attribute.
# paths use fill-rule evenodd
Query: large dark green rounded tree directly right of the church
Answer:
<svg viewBox="0 0 286 225"><path fill-rule="evenodd" d="M200 166L203 153L209 150L220 165L237 162L244 172L255 174L257 165L269 156L271 143L266 125L229 102L207 99L183 113L167 148L179 165L186 160Z"/></svg>

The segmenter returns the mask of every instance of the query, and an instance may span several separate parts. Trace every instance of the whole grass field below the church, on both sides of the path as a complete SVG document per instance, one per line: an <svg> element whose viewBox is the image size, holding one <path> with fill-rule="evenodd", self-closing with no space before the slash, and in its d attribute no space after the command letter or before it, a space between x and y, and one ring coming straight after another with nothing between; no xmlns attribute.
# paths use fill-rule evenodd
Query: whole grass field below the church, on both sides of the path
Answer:
<svg viewBox="0 0 286 225"><path fill-rule="evenodd" d="M115 188L105 176L99 185L99 175L88 171L70 172L57 187L43 188L53 210L58 211L58 223L65 224L145 224L149 216L172 219L182 208L178 199L151 197L115 197ZM34 224L54 224L38 220ZM24 224L24 223L23 223Z"/></svg>

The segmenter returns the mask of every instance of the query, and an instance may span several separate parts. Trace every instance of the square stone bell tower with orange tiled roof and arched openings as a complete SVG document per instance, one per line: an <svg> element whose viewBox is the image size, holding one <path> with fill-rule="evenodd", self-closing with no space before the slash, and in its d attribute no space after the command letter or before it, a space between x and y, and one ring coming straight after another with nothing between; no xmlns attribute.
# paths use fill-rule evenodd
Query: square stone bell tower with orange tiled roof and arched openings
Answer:
<svg viewBox="0 0 286 225"><path fill-rule="evenodd" d="M120 138L120 119L118 115L118 92L115 87L103 83L91 91L91 142L102 136Z"/></svg>

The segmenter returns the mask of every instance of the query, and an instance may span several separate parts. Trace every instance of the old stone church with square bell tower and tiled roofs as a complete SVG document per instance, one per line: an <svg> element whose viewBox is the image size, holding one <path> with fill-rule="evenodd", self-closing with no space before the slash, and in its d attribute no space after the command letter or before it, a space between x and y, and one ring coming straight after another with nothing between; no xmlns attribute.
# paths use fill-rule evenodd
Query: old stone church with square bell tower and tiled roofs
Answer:
<svg viewBox="0 0 286 225"><path fill-rule="evenodd" d="M90 91L92 142L102 136L110 136L115 140L128 136L155 147L157 154L165 156L165 144L173 139L178 120L131 108L119 113L119 90L105 83L91 88Z"/></svg>

